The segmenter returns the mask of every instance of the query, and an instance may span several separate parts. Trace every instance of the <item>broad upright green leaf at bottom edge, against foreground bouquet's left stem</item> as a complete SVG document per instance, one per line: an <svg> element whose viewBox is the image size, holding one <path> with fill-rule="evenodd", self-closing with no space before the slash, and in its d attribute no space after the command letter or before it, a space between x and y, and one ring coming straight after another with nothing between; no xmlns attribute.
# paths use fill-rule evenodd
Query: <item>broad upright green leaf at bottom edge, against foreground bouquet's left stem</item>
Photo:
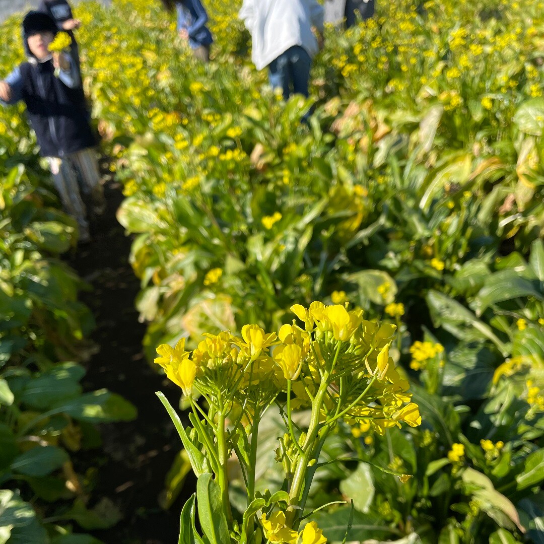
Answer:
<svg viewBox="0 0 544 544"><path fill-rule="evenodd" d="M221 500L221 489L212 474L202 474L196 482L199 520L210 544L230 544L228 524Z"/></svg>

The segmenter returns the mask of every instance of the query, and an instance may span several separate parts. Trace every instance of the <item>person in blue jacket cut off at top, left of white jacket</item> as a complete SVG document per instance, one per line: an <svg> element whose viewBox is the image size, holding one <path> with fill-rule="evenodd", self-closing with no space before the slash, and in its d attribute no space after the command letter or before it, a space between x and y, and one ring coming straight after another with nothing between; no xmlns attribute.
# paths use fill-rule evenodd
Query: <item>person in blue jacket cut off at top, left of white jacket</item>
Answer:
<svg viewBox="0 0 544 544"><path fill-rule="evenodd" d="M189 42L195 57L203 63L209 62L209 48L213 43L212 33L206 26L208 12L200 0L162 0L167 11L177 11L177 31Z"/></svg>

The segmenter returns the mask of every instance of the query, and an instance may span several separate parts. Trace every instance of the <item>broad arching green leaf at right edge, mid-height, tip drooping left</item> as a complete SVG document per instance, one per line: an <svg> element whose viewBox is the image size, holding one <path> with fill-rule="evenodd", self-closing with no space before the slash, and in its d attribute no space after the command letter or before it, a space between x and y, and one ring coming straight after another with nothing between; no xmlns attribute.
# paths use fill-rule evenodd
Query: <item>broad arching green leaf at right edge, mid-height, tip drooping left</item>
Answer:
<svg viewBox="0 0 544 544"><path fill-rule="evenodd" d="M477 316L481 316L493 304L517 298L525 299L527 296L544 300L540 282L525 279L515 270L502 270L492 274L486 280L484 287L474 299L474 309Z"/></svg>

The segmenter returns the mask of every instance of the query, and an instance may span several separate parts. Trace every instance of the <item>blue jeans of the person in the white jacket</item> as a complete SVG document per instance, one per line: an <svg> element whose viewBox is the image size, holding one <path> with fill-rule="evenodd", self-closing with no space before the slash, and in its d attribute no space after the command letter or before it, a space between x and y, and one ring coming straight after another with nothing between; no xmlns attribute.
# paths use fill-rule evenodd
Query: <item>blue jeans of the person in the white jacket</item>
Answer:
<svg viewBox="0 0 544 544"><path fill-rule="evenodd" d="M312 59L299 45L290 47L268 66L268 80L274 89L283 90L283 98L300 94L308 96Z"/></svg>

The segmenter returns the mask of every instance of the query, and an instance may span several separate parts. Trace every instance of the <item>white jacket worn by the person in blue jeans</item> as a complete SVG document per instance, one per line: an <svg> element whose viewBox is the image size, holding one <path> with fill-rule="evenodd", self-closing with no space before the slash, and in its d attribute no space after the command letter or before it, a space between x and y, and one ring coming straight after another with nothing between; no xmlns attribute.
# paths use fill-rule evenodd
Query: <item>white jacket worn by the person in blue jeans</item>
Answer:
<svg viewBox="0 0 544 544"><path fill-rule="evenodd" d="M316 0L244 0L238 16L251 33L257 70L295 45L310 57L319 51L312 27L323 32L323 7Z"/></svg>

